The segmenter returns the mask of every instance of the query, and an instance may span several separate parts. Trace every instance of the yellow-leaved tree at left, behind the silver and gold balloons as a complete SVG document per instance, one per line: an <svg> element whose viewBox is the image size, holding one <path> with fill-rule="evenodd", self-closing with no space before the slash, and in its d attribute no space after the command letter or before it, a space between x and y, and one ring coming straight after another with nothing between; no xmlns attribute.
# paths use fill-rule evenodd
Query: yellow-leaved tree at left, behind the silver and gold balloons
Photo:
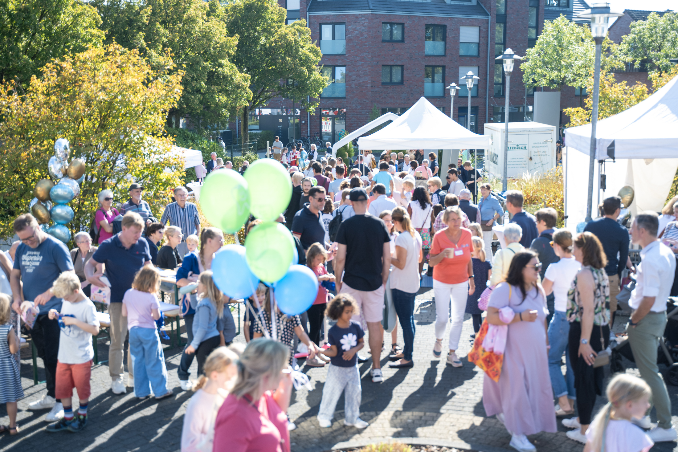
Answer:
<svg viewBox="0 0 678 452"><path fill-rule="evenodd" d="M36 182L49 178L54 141L71 142L71 157L87 165L72 232L89 229L97 194L104 188L117 201L129 180L146 186L144 199L156 215L180 182L183 165L172 155L163 131L167 110L181 96L181 75L169 52L153 70L136 50L95 47L47 63L22 96L7 83L0 91L0 237L11 236L12 221L28 211ZM56 182L56 181L55 181Z"/></svg>

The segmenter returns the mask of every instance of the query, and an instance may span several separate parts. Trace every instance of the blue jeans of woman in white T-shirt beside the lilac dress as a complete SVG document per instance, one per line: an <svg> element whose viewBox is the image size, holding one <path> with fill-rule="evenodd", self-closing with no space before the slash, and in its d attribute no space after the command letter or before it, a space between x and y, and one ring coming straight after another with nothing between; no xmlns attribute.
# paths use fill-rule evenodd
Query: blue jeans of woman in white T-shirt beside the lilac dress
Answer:
<svg viewBox="0 0 678 452"><path fill-rule="evenodd" d="M551 323L549 323L549 374L551 386L556 398L567 396L576 399L574 390L574 372L570 364L570 354L567 353L567 337L570 334L570 322L565 317L565 312L554 311ZM565 352L565 377L561 371L561 358Z"/></svg>

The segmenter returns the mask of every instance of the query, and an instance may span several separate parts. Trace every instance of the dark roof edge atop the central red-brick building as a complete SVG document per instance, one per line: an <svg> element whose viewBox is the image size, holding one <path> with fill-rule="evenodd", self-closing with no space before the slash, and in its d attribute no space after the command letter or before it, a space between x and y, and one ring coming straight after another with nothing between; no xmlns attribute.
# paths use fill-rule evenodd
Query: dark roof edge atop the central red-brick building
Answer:
<svg viewBox="0 0 678 452"><path fill-rule="evenodd" d="M483 18L488 16L487 11L480 3L477 5L446 3L445 0L311 0L311 4L308 5L308 12L311 14L365 11L422 16L475 16Z"/></svg>

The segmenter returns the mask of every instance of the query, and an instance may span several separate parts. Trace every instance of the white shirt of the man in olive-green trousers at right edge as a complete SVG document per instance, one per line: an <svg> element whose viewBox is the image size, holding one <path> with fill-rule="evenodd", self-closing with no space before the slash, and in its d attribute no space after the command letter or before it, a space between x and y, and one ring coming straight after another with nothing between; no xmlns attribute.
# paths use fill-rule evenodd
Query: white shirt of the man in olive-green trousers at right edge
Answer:
<svg viewBox="0 0 678 452"><path fill-rule="evenodd" d="M660 241L654 241L640 251L640 258L636 270L636 287L631 292L629 306L638 309L643 297L654 297L650 310L664 312L676 269L673 251Z"/></svg>

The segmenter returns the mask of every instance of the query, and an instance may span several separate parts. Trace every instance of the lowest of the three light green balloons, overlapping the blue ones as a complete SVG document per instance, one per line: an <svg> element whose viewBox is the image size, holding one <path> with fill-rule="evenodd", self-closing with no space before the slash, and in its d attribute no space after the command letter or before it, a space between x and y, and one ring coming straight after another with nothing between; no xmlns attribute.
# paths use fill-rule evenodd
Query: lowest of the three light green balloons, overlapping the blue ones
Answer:
<svg viewBox="0 0 678 452"><path fill-rule="evenodd" d="M294 248L290 230L281 223L265 222L254 226L247 234L245 258L258 279L275 283L289 270Z"/></svg>

